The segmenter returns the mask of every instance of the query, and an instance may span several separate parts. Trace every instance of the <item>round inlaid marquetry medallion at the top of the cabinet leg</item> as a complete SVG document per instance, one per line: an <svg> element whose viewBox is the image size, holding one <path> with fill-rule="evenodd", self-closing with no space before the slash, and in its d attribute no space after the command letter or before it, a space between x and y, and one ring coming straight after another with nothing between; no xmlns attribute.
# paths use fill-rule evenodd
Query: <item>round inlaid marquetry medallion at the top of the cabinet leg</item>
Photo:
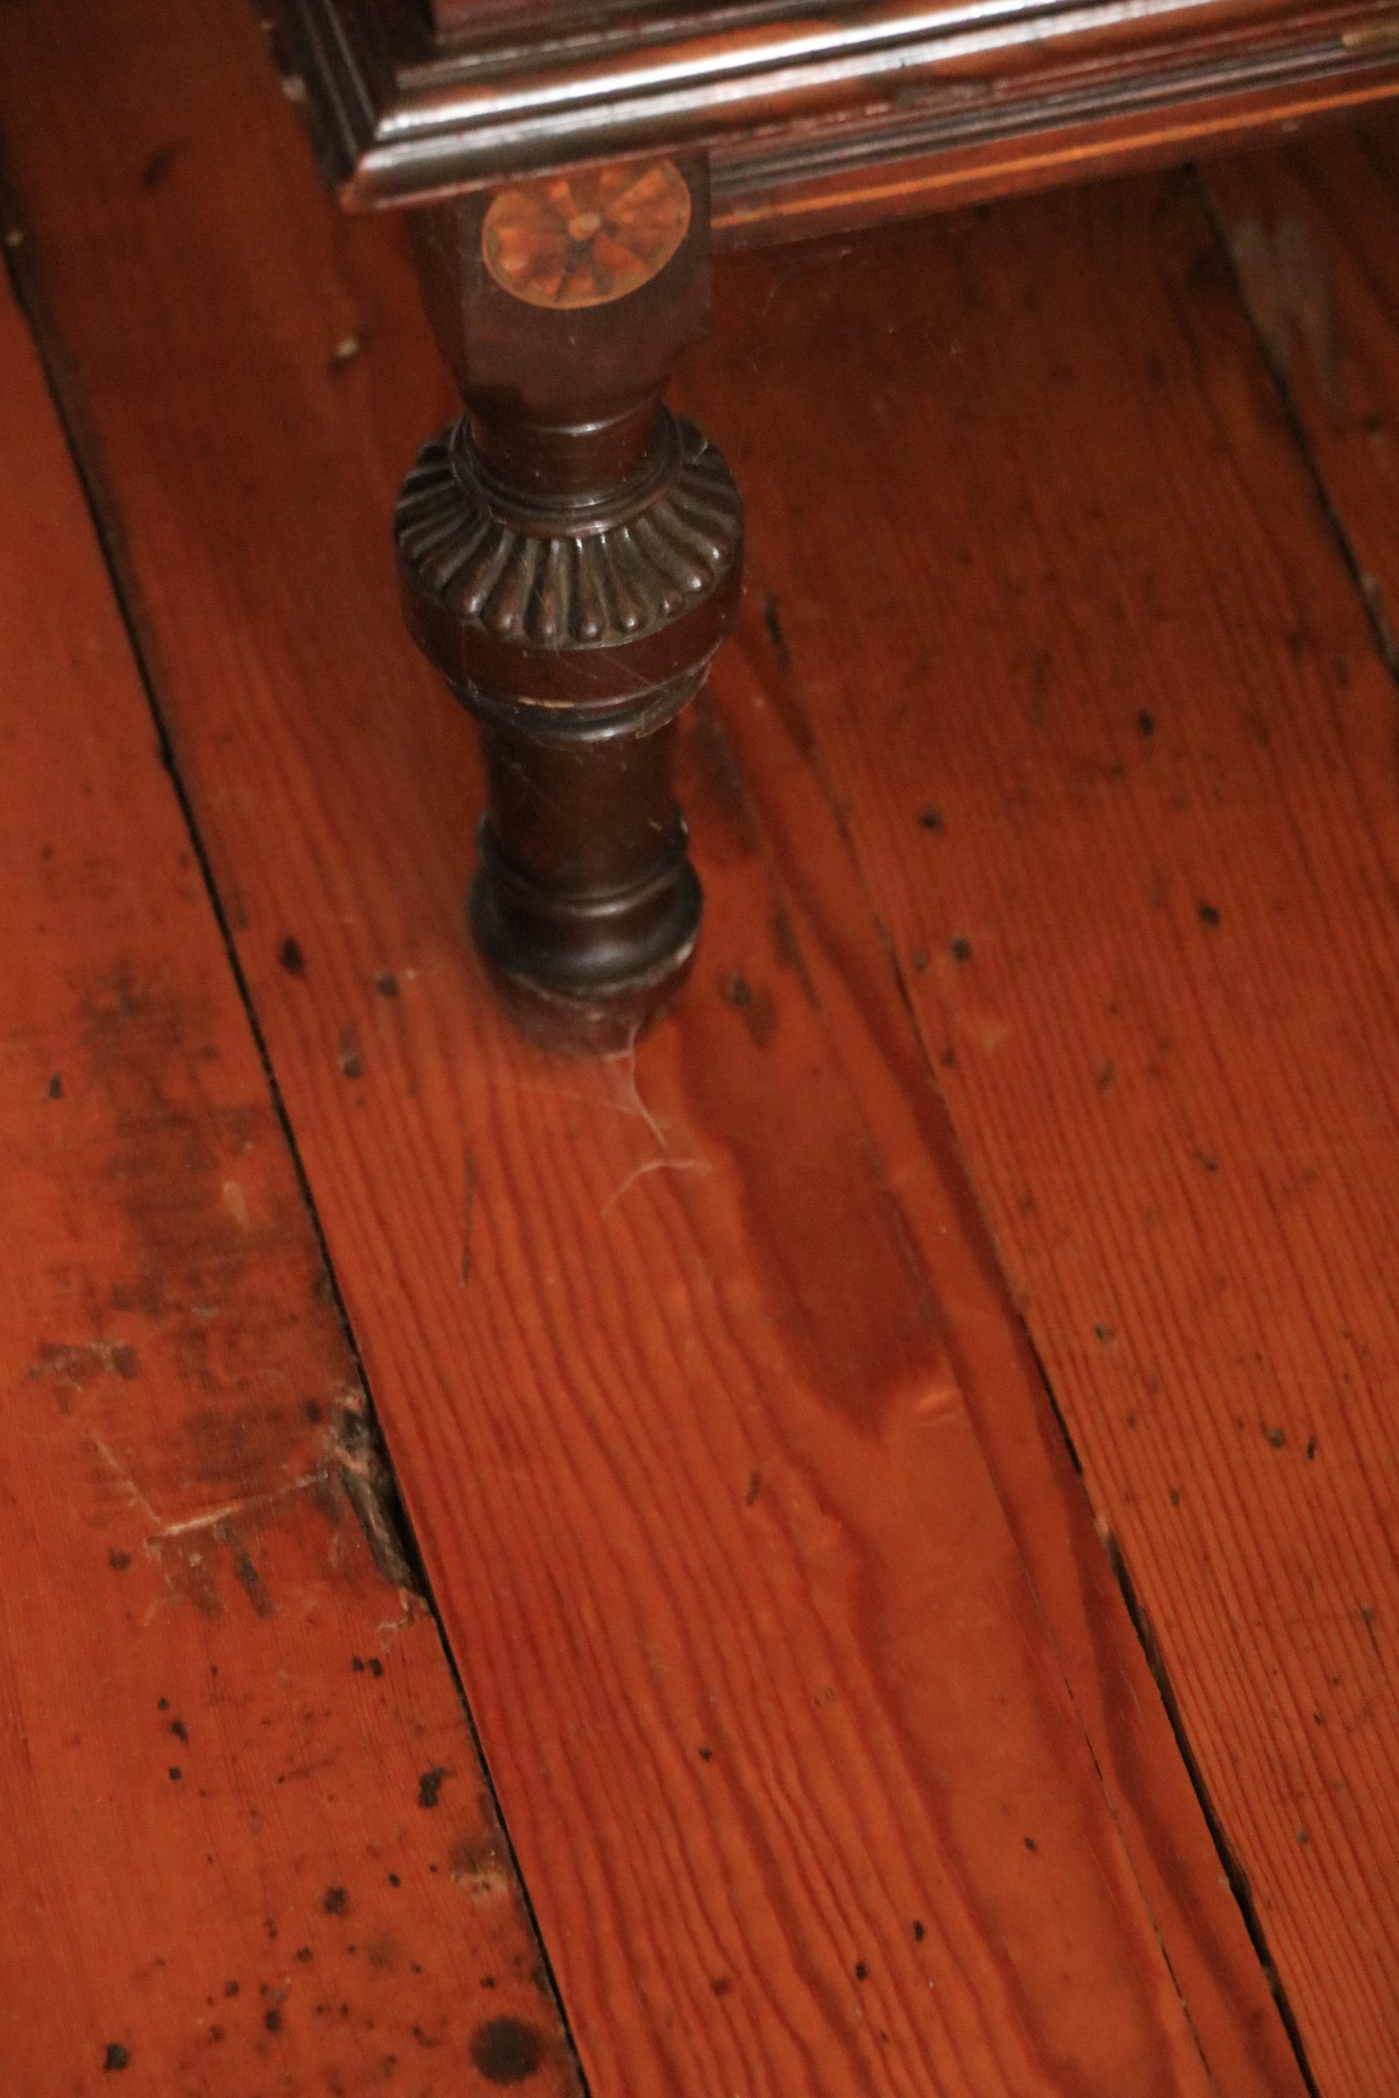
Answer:
<svg viewBox="0 0 1399 2098"><path fill-rule="evenodd" d="M650 283L690 224L673 159L514 183L480 229L487 269L531 306L606 306Z"/></svg>

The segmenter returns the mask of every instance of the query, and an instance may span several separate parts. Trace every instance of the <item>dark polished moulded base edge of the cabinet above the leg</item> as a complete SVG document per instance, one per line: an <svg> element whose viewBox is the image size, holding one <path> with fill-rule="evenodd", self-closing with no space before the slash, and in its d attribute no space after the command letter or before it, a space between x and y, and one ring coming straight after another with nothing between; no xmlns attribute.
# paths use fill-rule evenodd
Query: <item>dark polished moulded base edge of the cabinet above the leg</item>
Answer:
<svg viewBox="0 0 1399 2098"><path fill-rule="evenodd" d="M266 0L352 208L709 151L736 245L1179 162L1399 90L1389 0Z"/></svg>

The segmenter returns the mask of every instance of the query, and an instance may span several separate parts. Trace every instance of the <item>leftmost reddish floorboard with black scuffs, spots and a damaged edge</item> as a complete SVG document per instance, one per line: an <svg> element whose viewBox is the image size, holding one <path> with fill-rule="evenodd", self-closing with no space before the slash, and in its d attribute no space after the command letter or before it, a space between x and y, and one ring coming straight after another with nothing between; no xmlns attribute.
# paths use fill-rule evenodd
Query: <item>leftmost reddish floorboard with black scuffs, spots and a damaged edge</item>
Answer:
<svg viewBox="0 0 1399 2098"><path fill-rule="evenodd" d="M447 1657L354 1513L357 1370L8 290L0 449L0 2083L455 2098L531 2058L562 2098Z"/></svg>

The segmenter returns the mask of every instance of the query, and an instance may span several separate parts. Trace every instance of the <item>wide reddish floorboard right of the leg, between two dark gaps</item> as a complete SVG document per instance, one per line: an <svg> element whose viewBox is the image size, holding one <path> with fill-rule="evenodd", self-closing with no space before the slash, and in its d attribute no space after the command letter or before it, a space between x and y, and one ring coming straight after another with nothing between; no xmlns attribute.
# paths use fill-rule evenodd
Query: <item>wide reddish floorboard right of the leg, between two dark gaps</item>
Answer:
<svg viewBox="0 0 1399 2098"><path fill-rule="evenodd" d="M717 340L688 394L793 749L1317 2088L1378 2098L1399 822L1365 608L1189 180L734 269ZM839 506L793 491L812 432Z"/></svg>

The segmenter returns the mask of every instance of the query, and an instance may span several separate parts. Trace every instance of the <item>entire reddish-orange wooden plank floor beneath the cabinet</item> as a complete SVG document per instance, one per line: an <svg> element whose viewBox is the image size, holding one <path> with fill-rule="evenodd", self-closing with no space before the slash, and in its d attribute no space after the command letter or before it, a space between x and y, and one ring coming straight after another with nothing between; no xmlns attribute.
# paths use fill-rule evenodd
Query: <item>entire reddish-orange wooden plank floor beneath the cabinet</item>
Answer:
<svg viewBox="0 0 1399 2098"><path fill-rule="evenodd" d="M241 0L0 134L4 2098L1393 2098L1399 128L719 269L577 1068L401 227Z"/></svg>

